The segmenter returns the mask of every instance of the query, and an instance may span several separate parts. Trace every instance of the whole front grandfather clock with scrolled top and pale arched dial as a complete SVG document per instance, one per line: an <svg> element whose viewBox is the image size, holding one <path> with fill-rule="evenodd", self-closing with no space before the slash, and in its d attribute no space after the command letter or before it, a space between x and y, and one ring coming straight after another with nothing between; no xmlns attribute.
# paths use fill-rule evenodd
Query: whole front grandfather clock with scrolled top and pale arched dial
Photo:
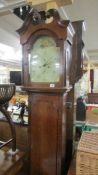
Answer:
<svg viewBox="0 0 98 175"><path fill-rule="evenodd" d="M47 23L47 18L52 22ZM18 32L23 46L23 88L29 96L30 174L61 175L73 28L54 9L33 9Z"/></svg>

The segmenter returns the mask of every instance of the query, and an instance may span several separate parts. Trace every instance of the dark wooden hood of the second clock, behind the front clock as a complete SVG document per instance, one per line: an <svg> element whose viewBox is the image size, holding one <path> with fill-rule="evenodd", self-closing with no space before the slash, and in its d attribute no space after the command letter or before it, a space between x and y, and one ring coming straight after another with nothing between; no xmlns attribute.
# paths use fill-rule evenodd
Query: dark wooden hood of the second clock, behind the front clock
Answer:
<svg viewBox="0 0 98 175"><path fill-rule="evenodd" d="M75 84L83 75L83 23L84 21L72 22L75 30L75 35L73 37L74 44L72 46L72 69L70 72L72 84Z"/></svg>

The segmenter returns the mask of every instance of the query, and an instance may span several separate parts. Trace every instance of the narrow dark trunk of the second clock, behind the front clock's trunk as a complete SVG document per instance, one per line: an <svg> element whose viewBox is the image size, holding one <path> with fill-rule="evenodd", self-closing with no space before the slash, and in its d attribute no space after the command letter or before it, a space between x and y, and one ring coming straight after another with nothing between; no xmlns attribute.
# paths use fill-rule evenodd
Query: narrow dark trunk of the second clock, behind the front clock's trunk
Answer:
<svg viewBox="0 0 98 175"><path fill-rule="evenodd" d="M68 92L66 99L66 172L74 152L75 125L74 125L74 87Z"/></svg>

